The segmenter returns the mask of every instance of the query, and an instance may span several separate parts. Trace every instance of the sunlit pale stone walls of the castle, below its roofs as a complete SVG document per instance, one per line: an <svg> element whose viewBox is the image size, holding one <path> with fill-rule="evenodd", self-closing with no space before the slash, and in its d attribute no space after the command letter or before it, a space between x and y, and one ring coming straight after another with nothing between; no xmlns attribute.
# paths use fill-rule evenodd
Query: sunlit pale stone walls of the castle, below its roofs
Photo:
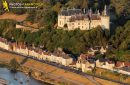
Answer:
<svg viewBox="0 0 130 85"><path fill-rule="evenodd" d="M64 28L64 25L67 24L68 30L75 30L76 28L80 28L80 30L89 30L90 21L88 19L70 22L70 18L71 16L58 16L58 27ZM107 16L101 16L101 20L91 20L90 29L97 26L101 26L103 29L109 29L109 21L109 17Z"/></svg>

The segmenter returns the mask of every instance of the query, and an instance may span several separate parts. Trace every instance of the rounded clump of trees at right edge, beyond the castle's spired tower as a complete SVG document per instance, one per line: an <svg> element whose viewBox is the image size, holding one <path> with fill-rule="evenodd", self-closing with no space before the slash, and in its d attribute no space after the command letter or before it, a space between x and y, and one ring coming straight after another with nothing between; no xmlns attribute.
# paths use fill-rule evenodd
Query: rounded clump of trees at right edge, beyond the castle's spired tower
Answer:
<svg viewBox="0 0 130 85"><path fill-rule="evenodd" d="M130 21L128 21L123 27L117 27L115 35L111 37L111 42L113 43L114 47L119 50L129 49Z"/></svg>

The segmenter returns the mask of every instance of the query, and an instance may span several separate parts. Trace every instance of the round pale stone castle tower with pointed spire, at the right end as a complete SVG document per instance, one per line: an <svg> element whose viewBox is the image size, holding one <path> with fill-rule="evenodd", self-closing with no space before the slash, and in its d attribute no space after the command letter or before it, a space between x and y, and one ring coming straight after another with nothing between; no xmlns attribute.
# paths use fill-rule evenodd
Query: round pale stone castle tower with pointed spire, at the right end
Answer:
<svg viewBox="0 0 130 85"><path fill-rule="evenodd" d="M104 13L103 15L101 16L101 27L103 29L110 29L110 17L107 16L107 9L106 9L106 5L104 7Z"/></svg>

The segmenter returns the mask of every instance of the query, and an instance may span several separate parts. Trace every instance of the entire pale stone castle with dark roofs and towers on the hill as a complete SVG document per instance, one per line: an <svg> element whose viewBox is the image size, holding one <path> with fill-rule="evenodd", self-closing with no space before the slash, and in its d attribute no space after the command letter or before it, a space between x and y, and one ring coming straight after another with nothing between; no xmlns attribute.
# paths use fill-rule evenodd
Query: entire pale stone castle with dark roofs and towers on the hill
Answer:
<svg viewBox="0 0 130 85"><path fill-rule="evenodd" d="M92 13L92 10L85 9L62 9L58 14L58 29L64 30L90 30L97 26L102 29L110 29L110 17L107 15L106 6L104 11Z"/></svg>

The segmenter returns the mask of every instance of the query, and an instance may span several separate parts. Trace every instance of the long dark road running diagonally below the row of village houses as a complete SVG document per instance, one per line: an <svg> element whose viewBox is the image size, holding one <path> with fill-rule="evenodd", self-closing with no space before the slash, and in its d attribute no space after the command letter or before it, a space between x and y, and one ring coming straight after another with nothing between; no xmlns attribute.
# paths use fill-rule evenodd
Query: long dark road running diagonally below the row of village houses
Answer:
<svg viewBox="0 0 130 85"><path fill-rule="evenodd" d="M70 68L68 66L64 66L64 65L61 65L61 64L57 64L57 63L54 63L54 62L49 62L49 61L45 61L45 60L40 60L40 59L37 59L33 56L26 56L26 55L23 55L23 54L19 54L19 53L16 53L16 52L12 52L12 51L8 51L8 50L4 50L2 48L0 48L0 51L3 51L3 52L7 52L7 53L12 53L12 54L16 54L16 55L20 55L20 56L23 56L23 57L28 57L30 59L33 59L33 60L36 60L36 61L39 61L39 62L42 62L42 63L46 63L46 64L49 64L49 65L52 65L52 66L55 66L55 67L58 67L58 68L61 68L61 69L64 69L64 70L67 70L67 71L70 71L70 72L73 72L73 73L76 73L76 74L79 74L79 75L82 75L84 76L85 78L89 79L90 81L92 81L93 83L95 83L96 85L101 85L100 83L98 83L96 80L94 80L93 77L96 77L96 78L100 78L100 79L103 79L103 80L107 80L107 81L111 81L111 82L115 82L115 83L119 83L121 85L129 85L127 83L123 83L123 82L120 82L118 80L112 80L112 79L108 79L108 78L105 78L105 77L101 77L101 76L97 76L97 75L90 75L90 74L87 74L87 73L83 73L81 70L76 70L76 69L73 69L73 68Z"/></svg>

